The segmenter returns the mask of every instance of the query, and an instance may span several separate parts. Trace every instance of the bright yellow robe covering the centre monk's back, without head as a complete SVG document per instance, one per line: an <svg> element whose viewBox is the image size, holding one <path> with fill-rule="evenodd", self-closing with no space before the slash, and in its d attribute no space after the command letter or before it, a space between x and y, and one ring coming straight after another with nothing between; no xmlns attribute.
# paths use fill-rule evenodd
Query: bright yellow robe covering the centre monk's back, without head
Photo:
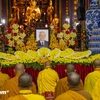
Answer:
<svg viewBox="0 0 100 100"><path fill-rule="evenodd" d="M41 71L37 78L39 94L47 91L55 92L55 87L58 80L58 74L52 68L46 68Z"/></svg>

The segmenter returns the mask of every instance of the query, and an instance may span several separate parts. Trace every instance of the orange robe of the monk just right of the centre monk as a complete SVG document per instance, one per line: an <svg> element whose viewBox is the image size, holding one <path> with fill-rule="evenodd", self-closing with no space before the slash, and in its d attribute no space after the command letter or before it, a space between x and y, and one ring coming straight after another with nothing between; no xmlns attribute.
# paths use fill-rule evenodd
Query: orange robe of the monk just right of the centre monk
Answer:
<svg viewBox="0 0 100 100"><path fill-rule="evenodd" d="M79 88L79 90L83 89L82 80L80 80L80 85L78 88ZM55 88L55 97L57 97L58 95L66 92L68 90L69 90L69 85L68 85L67 77L60 79Z"/></svg>

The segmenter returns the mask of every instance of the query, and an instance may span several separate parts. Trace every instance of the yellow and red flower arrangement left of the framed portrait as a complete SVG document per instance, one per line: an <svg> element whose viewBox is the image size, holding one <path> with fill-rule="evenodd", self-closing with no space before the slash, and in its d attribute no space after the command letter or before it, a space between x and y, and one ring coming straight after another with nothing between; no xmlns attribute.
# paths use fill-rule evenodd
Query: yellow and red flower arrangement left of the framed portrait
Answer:
<svg viewBox="0 0 100 100"><path fill-rule="evenodd" d="M16 47L18 44L22 44L26 34L24 29L20 27L16 21L10 25L6 34L6 45L9 47Z"/></svg>

